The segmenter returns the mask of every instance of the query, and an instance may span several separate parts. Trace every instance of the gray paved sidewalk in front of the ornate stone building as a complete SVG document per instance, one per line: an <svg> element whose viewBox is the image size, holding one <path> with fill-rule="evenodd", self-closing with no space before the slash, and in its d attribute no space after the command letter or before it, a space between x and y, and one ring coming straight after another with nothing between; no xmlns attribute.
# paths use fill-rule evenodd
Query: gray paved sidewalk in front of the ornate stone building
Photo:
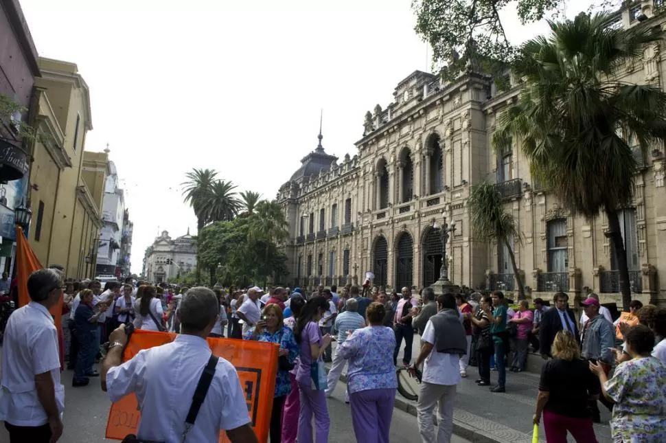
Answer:
<svg viewBox="0 0 666 443"><path fill-rule="evenodd" d="M416 358L420 337L414 336L413 359ZM334 345L335 347L335 342ZM402 358L402 350L398 362ZM327 364L330 367L329 364ZM341 380L346 383L346 368ZM476 367L468 367L468 377L463 378L457 387L456 407L453 413L453 432L474 443L531 443L532 416L536 407L539 376L530 372L507 372L507 392L492 393L487 387L474 383L478 375ZM490 373L491 380L497 379L497 373ZM397 391L395 407L416 416L416 402L406 400ZM595 424L595 433L599 443L612 443L610 438L610 412L599 404L601 424ZM416 420L416 418L414 419ZM539 441L546 441L543 428L540 427ZM571 438L569 439L571 440Z"/></svg>

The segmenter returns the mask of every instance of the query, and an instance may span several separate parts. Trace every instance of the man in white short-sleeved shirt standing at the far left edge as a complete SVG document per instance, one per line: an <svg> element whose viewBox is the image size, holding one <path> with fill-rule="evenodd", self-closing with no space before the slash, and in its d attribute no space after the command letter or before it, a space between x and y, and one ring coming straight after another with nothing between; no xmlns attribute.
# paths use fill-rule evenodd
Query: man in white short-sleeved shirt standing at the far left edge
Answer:
<svg viewBox="0 0 666 443"><path fill-rule="evenodd" d="M34 271L27 280L31 302L7 322L0 420L10 443L50 443L62 435L65 389L60 384L58 331L49 309L58 304L64 289L59 271Z"/></svg>

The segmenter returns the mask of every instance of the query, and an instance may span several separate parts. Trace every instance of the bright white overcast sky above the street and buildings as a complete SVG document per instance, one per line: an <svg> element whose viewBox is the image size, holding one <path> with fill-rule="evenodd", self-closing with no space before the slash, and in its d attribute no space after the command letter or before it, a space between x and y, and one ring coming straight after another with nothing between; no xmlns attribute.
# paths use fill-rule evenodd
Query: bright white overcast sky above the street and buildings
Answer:
<svg viewBox="0 0 666 443"><path fill-rule="evenodd" d="M589 0L573 0L571 16ZM363 118L395 86L430 71L411 0L21 0L40 56L76 63L93 130L134 223L132 272L160 231L196 218L181 183L211 168L237 190L275 198L317 146L354 156ZM509 39L547 31L503 14Z"/></svg>

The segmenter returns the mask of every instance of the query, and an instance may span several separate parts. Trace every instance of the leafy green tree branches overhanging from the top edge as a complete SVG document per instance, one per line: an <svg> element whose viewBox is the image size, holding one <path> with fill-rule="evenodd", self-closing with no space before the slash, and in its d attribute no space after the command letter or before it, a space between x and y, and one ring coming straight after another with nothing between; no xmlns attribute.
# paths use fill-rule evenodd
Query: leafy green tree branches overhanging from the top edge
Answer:
<svg viewBox="0 0 666 443"><path fill-rule="evenodd" d="M620 0L597 0L593 8L615 10ZM443 73L454 80L461 71L482 69L499 74L516 55L507 39L507 7L516 6L522 24L561 15L564 7L576 8L577 0L413 0L416 33L433 50L433 62L446 64ZM501 16L503 13L503 17ZM499 80L503 76L496 75Z"/></svg>

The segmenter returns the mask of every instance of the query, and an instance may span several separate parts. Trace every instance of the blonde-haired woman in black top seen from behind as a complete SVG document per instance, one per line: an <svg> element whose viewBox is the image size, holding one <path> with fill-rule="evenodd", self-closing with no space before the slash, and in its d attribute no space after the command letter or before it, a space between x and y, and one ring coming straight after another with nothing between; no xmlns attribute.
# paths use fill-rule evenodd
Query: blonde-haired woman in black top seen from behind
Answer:
<svg viewBox="0 0 666 443"><path fill-rule="evenodd" d="M580 359L571 332L555 335L551 355L553 359L541 370L533 422L538 424L543 413L547 443L566 443L566 431L578 443L597 442L587 405L590 396L599 397L599 382L588 363Z"/></svg>

